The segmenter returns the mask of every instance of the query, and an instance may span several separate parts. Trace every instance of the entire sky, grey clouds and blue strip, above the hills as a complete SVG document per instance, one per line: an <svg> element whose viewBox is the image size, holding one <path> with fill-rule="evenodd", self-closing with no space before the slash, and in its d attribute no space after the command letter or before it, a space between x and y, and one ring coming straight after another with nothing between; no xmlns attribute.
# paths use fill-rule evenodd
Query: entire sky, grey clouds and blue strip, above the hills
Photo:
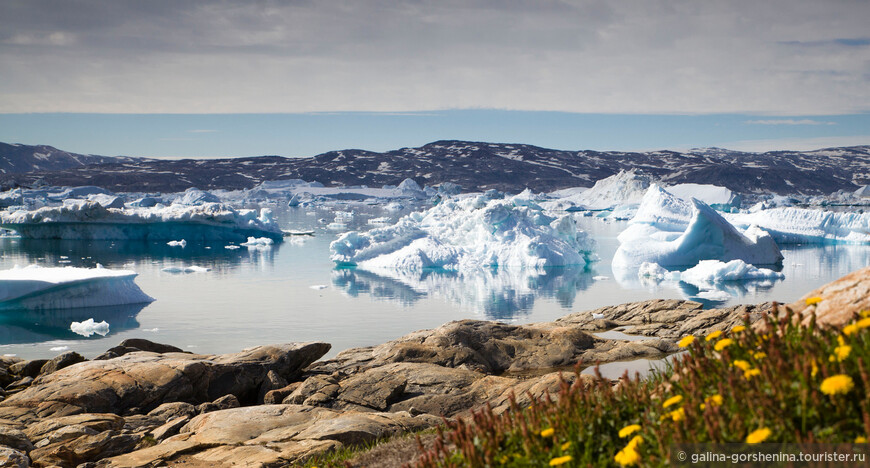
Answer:
<svg viewBox="0 0 870 468"><path fill-rule="evenodd" d="M4 0L0 141L310 156L870 144L865 0Z"/></svg>

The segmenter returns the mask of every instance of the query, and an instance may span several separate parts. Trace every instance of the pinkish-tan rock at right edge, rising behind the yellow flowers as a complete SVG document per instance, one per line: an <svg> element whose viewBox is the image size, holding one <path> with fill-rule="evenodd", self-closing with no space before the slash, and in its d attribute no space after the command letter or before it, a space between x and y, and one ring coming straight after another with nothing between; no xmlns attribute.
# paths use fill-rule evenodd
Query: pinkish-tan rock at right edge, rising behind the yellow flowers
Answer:
<svg viewBox="0 0 870 468"><path fill-rule="evenodd" d="M818 304L807 305L807 299L819 297ZM787 306L799 314L804 324L812 314L821 326L842 328L852 321L855 314L870 310L870 267L854 271L832 283L828 283ZM780 308L785 314L785 308Z"/></svg>

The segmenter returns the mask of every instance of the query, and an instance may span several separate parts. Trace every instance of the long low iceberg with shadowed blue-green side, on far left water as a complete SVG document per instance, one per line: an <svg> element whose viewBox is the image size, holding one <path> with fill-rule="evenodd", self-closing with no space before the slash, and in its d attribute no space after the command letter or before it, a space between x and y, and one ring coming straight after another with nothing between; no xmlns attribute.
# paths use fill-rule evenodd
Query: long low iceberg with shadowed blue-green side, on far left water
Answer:
<svg viewBox="0 0 870 468"><path fill-rule="evenodd" d="M248 237L282 239L281 229L264 208L236 210L221 203L105 208L83 201L60 207L0 212L0 227L30 239L244 242Z"/></svg>

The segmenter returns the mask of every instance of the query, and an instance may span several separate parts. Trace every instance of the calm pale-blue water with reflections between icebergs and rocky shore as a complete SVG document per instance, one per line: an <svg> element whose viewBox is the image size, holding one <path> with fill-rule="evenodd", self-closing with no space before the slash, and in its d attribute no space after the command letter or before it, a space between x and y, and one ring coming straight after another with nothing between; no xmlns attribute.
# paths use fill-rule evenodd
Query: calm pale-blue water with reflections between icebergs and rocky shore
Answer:
<svg viewBox="0 0 870 468"><path fill-rule="evenodd" d="M374 217L396 219L383 207L351 204L349 228L369 229ZM571 312L650 298L692 298L683 283L656 284L610 268L624 223L578 218L598 241L601 260L587 269L563 268L542 275L484 272L383 277L335 269L329 243L340 231L328 229L327 208L276 208L285 229L315 229L268 250L228 250L224 244L169 247L163 243L78 242L0 239L0 269L15 264L129 268L137 284L156 299L145 305L42 313L0 313L0 354L50 357L61 349L93 357L121 340L143 337L201 353L292 341L326 341L330 353L397 338L414 330L464 318L514 323L548 321ZM870 247L791 246L783 249L785 280L733 284L732 298L713 306L793 301L806 292L870 265ZM67 258L62 258L67 257ZM67 263L69 262L69 263ZM168 266L197 265L205 273L173 274ZM325 287L323 287L325 286ZM85 338L69 324L94 318L110 324L105 337Z"/></svg>

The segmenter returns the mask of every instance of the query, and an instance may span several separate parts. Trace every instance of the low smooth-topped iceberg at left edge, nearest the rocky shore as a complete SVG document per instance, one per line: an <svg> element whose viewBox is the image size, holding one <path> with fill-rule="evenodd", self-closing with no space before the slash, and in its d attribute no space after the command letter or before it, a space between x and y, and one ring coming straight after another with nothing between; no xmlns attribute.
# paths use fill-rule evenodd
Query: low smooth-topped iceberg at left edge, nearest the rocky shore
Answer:
<svg viewBox="0 0 870 468"><path fill-rule="evenodd" d="M0 271L0 310L117 306L154 301L133 279L136 272L107 268L30 265Z"/></svg>

